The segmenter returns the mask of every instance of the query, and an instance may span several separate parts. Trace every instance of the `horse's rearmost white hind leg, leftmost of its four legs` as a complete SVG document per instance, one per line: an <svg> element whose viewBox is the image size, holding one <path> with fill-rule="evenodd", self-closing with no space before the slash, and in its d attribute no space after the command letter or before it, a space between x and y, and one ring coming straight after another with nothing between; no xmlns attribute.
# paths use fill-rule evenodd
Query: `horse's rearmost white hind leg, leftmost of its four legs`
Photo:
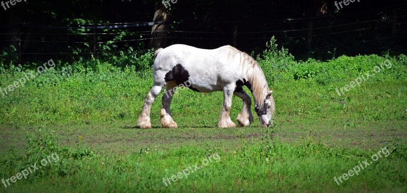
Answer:
<svg viewBox="0 0 407 193"><path fill-rule="evenodd" d="M137 119L137 124L138 126L140 126L140 128L151 128L150 121L151 105L153 104L157 95L160 93L162 87L163 86L161 85L153 85L150 92L146 95L146 99L144 99L143 110Z"/></svg>

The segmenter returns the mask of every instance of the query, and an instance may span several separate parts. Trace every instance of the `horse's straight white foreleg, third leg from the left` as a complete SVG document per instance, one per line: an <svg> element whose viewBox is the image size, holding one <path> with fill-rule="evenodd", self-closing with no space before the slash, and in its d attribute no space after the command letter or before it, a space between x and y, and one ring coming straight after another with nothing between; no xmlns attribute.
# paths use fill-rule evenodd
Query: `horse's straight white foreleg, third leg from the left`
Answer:
<svg viewBox="0 0 407 193"><path fill-rule="evenodd" d="M223 88L223 107L220 113L218 127L235 127L236 124L230 119L230 109L232 106L232 97L235 85L229 85Z"/></svg>

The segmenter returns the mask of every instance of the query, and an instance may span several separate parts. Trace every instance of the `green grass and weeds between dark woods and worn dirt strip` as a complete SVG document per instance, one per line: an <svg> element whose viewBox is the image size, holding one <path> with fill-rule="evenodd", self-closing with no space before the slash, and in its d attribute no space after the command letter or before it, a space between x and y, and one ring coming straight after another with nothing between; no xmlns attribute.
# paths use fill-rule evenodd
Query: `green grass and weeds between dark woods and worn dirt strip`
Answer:
<svg viewBox="0 0 407 193"><path fill-rule="evenodd" d="M143 54L129 49L120 55L106 61L80 59L71 64L55 60L55 69L38 74L27 80L23 87L9 91L5 96L0 93L0 113L3 115L0 123L135 120L153 82L151 66L154 54L152 51ZM345 95L337 94L336 89L367 72L373 73L374 67L380 66L386 59L391 61L391 68L382 69ZM296 61L286 49L279 49L272 39L268 49L257 56L257 60L271 89L276 91L277 116L327 116L338 112L350 113L351 117L363 120L400 120L407 116L404 112L407 107L403 105L406 104L404 96L407 92L403 86L407 77L404 55L340 56L327 62L315 59ZM42 65L33 63L22 67L3 64L0 88L4 92L9 85L27 73L35 73L36 68ZM366 90L369 90L367 95ZM298 101L293 101L293 98ZM314 103L309 103L310 98ZM182 90L181 94L175 95L173 104L179 105L172 107L172 111L185 116L208 114L208 111L217 114L216 107L221 105L221 99L220 93ZM202 103L196 104L194 100ZM237 99L233 104L234 109L239 109ZM154 103L153 112L158 108L159 102ZM386 116L381 115L383 113ZM208 120L199 121L208 123Z"/></svg>

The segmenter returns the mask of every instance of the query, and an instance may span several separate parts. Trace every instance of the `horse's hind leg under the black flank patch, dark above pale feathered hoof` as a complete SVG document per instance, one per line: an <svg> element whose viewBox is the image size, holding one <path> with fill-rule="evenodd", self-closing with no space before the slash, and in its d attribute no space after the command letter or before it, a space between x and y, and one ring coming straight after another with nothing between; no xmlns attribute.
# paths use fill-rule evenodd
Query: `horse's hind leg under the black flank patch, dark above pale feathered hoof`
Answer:
<svg viewBox="0 0 407 193"><path fill-rule="evenodd" d="M169 106L171 105L172 95L175 93L177 84L174 82L167 83L167 89L162 96L161 124L163 127L177 128L177 123L172 119Z"/></svg>

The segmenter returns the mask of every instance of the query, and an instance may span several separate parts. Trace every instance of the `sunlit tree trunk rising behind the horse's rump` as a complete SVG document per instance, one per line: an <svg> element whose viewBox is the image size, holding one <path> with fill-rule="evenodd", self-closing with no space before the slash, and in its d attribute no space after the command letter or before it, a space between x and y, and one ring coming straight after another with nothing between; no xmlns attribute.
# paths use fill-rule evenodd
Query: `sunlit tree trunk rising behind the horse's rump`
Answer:
<svg viewBox="0 0 407 193"><path fill-rule="evenodd" d="M162 4L162 0L156 0L156 12L154 13L154 22L165 22L163 24L153 25L151 29L150 47L154 49L165 48L168 44L168 12Z"/></svg>

